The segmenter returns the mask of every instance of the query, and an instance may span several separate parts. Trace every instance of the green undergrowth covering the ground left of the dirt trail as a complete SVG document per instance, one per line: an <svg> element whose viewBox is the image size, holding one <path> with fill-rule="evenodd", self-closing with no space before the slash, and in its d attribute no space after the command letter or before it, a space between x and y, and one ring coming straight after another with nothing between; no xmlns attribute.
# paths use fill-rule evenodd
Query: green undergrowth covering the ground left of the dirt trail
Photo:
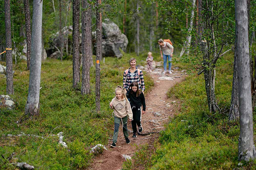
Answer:
<svg viewBox="0 0 256 170"><path fill-rule="evenodd" d="M28 96L29 71L26 62L13 66L14 110L0 112L0 169L14 169L7 161L12 152L17 162L27 162L35 169L84 169L92 161L90 149L96 144L108 145L112 137L114 121L109 102L115 97L117 85L122 86L123 73L129 68L129 59L135 57L138 65L144 65L145 55L139 57L124 54L117 59L106 57L100 70L100 113L95 113L95 66L90 69L91 94L82 96L81 82L72 88L72 61L47 59L42 63L40 90L40 114L32 120L16 124L23 115ZM95 56L94 56L95 60ZM5 65L5 63L1 63ZM82 69L81 69L82 70ZM82 72L82 71L81 71ZM144 72L146 92L154 82ZM0 94L6 94L6 78L0 74ZM63 132L68 148L58 144L57 133ZM35 136L6 137L7 134ZM52 136L54 135L54 136Z"/></svg>

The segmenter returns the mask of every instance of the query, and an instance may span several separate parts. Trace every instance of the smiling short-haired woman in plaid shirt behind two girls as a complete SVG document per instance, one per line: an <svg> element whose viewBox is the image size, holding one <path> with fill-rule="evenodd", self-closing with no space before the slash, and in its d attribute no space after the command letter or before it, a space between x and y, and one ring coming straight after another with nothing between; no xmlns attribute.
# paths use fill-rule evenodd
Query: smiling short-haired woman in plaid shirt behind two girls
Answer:
<svg viewBox="0 0 256 170"><path fill-rule="evenodd" d="M143 92L145 91L145 84L142 70L136 67L136 59L130 59L130 68L124 71L123 85L124 91L127 92L130 84L136 81L139 85L139 89ZM139 72L138 72L139 71Z"/></svg>

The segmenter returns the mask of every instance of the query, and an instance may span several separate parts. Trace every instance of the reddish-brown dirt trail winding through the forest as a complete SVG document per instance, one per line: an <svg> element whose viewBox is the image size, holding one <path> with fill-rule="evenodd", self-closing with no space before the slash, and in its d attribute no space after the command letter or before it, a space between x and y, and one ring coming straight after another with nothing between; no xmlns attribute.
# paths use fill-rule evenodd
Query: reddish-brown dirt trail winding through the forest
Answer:
<svg viewBox="0 0 256 170"><path fill-rule="evenodd" d="M165 76L174 77L173 80L160 80L159 77L163 76L157 74L161 72L161 69L155 69L150 75L154 79L155 86L152 91L146 94L146 113L142 115L141 124L143 127L142 133L147 132L159 132L164 129L164 123L168 122L169 117L173 113L173 103L167 98L167 91L169 88L174 86L176 83L182 81L185 77L184 73L181 71L174 70L172 74L165 74ZM156 116L154 113L158 112L160 116ZM119 127L118 139L116 143L116 148L110 148L112 144L112 139L109 139L107 149L103 154L94 158L91 164L90 170L119 170L122 169L123 162L125 159L122 154L133 156L136 152L136 145L141 144L152 144L154 140L158 137L158 133L151 134L148 136L138 136L137 138L132 138L132 132L129 133L130 144L126 144L124 140L124 134L122 131L122 126ZM128 129L132 131L132 125L129 122L127 125ZM111 127L114 130L114 125ZM111 136L113 137L113 136Z"/></svg>

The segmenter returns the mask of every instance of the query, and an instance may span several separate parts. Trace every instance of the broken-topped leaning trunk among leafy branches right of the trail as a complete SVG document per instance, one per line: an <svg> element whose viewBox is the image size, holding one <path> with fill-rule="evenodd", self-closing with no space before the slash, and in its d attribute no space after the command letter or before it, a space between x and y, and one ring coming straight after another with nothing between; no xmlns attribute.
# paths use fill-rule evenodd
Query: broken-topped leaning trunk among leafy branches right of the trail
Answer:
<svg viewBox="0 0 256 170"><path fill-rule="evenodd" d="M200 42L201 51L203 53L203 65L204 65L204 80L205 80L205 90L208 100L208 107L210 112L216 112L218 109L214 86L213 86L213 78L214 78L214 69L211 69L211 63L209 62L210 56L208 53L208 45L206 41Z"/></svg>

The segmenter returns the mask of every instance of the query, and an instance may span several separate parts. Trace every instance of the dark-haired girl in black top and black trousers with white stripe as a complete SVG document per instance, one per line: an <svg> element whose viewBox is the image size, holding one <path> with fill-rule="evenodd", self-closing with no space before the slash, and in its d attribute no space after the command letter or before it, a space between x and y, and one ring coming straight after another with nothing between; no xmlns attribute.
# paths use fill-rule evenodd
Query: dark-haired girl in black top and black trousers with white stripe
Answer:
<svg viewBox="0 0 256 170"><path fill-rule="evenodd" d="M137 82L132 82L129 87L129 91L126 93L127 98L130 98L131 107L132 107L132 130L133 130L133 138L137 137L137 126L139 132L142 132L141 126L141 115L145 114L146 110L146 102L144 94L139 90L139 85ZM143 110L141 110L141 105L143 106Z"/></svg>

